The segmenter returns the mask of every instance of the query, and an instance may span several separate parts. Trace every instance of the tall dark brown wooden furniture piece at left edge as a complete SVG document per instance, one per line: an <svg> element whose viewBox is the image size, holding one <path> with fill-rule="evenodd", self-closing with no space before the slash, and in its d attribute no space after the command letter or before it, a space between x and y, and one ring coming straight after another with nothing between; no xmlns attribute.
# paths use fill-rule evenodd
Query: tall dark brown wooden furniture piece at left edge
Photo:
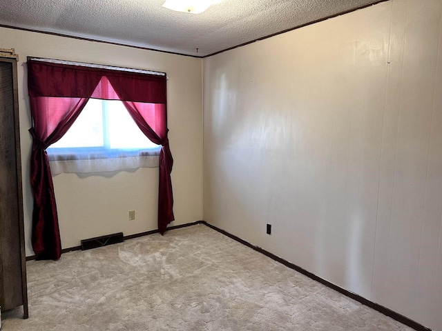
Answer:
<svg viewBox="0 0 442 331"><path fill-rule="evenodd" d="M17 61L0 57L0 305L28 317Z"/></svg>

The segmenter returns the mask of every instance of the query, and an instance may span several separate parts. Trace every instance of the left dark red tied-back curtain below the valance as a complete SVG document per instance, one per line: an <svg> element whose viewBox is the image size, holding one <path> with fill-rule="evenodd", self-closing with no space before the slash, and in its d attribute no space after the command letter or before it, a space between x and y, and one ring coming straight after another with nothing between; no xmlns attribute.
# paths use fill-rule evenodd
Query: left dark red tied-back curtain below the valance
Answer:
<svg viewBox="0 0 442 331"><path fill-rule="evenodd" d="M29 130L32 135L30 183L34 194L31 240L37 259L57 260L61 255L57 204L46 148L63 137L87 101L86 98L30 97L34 123Z"/></svg>

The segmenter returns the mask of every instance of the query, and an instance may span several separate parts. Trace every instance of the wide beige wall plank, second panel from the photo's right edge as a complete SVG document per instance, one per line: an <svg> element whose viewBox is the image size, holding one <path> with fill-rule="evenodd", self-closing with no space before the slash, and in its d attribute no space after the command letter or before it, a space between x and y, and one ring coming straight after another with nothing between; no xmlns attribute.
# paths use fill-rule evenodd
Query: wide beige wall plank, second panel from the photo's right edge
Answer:
<svg viewBox="0 0 442 331"><path fill-rule="evenodd" d="M405 31L385 302L413 319L418 318L415 302L441 5L410 1Z"/></svg>

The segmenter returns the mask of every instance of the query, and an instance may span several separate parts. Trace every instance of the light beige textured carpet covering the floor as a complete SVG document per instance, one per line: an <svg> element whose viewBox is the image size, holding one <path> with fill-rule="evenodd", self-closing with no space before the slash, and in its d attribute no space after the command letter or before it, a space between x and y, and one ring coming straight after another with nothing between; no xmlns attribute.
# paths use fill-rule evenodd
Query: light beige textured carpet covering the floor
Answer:
<svg viewBox="0 0 442 331"><path fill-rule="evenodd" d="M28 262L12 330L412 330L206 227Z"/></svg>

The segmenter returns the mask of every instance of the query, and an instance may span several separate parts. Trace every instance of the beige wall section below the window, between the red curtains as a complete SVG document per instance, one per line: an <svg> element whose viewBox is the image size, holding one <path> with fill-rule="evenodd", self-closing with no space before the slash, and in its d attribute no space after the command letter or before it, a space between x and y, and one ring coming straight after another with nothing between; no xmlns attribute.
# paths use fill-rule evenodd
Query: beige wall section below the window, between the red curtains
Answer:
<svg viewBox="0 0 442 331"><path fill-rule="evenodd" d="M59 174L53 181L63 248L79 245L79 239L122 230L135 234L157 225L156 168L108 176ZM135 220L129 221L128 210L135 210Z"/></svg>

